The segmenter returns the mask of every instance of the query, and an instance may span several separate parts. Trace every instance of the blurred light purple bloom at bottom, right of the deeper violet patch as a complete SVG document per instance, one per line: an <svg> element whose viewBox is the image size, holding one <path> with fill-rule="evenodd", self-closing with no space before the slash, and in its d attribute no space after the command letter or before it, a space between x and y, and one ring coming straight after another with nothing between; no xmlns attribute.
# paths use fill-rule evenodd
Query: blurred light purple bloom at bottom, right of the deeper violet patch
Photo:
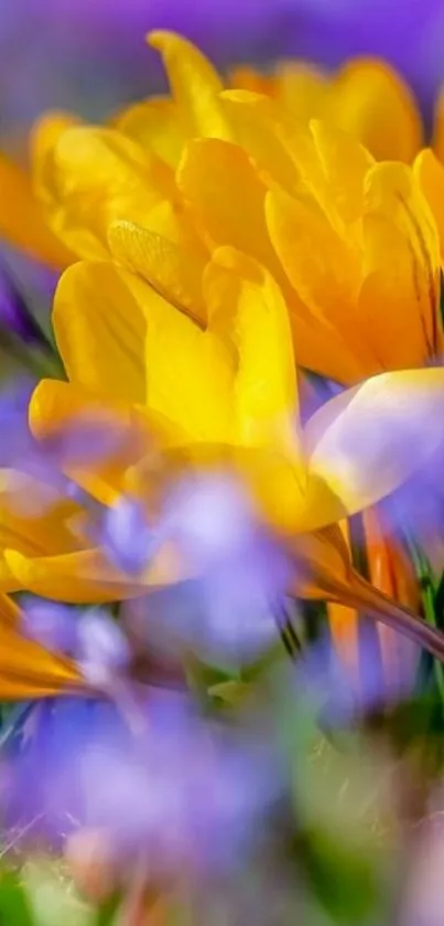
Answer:
<svg viewBox="0 0 444 926"><path fill-rule="evenodd" d="M86 826L123 855L142 851L154 876L236 865L278 787L268 749L171 695L148 705L147 721L144 737L123 745L109 730L79 757Z"/></svg>

